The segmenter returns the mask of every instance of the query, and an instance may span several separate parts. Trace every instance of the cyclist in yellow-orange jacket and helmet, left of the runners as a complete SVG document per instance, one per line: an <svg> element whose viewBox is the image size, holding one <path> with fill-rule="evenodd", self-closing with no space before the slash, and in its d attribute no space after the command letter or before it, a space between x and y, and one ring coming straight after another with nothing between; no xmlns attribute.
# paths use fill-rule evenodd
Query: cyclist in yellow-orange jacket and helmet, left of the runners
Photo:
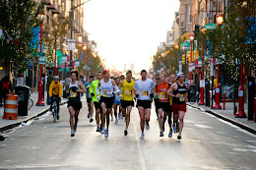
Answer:
<svg viewBox="0 0 256 170"><path fill-rule="evenodd" d="M50 111L52 111L52 105L54 99L57 102L57 120L59 120L59 103L62 96L63 87L59 82L59 77L55 76L49 86L49 97L50 97Z"/></svg>

